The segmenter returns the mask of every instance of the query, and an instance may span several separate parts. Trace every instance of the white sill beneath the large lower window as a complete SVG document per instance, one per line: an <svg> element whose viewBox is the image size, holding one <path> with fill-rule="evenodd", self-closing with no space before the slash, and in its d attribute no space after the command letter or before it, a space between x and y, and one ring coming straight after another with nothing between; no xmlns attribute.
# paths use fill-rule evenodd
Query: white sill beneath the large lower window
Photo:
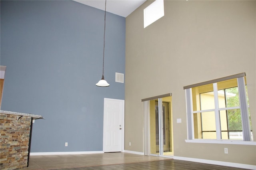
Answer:
<svg viewBox="0 0 256 170"><path fill-rule="evenodd" d="M193 139L185 140L187 143L216 143L216 144L243 144L243 145L256 145L254 141L243 140L214 140L214 139Z"/></svg>

